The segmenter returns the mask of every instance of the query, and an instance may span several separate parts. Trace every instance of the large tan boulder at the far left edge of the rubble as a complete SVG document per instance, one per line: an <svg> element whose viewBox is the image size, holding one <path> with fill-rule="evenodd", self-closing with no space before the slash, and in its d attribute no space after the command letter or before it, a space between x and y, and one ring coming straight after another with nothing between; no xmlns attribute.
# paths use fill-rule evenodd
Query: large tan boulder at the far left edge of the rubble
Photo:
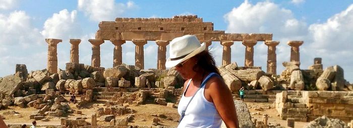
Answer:
<svg viewBox="0 0 353 128"><path fill-rule="evenodd" d="M23 86L23 79L20 77L9 75L5 76L3 79L0 79L0 92L12 95L14 94L20 86Z"/></svg>

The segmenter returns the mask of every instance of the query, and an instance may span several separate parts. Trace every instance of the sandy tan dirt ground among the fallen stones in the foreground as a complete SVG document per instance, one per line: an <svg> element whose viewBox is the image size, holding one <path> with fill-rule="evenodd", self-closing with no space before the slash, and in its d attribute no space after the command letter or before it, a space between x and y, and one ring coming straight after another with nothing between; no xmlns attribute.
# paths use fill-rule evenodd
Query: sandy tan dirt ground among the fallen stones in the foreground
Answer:
<svg viewBox="0 0 353 128"><path fill-rule="evenodd" d="M75 119L76 117L86 117L86 121L91 122L91 114L95 112L98 107L103 107L104 100L98 100L91 102L85 105L83 108L77 108L76 104L70 104L71 109L80 110L82 114L70 114L67 117L71 119ZM262 120L262 114L268 114L269 119L268 122L275 124L279 123L281 126L286 126L286 120L282 120L277 116L277 111L273 108L272 103L253 103L247 102L248 108L251 112L251 116L258 120ZM263 111L255 110L255 108L264 108ZM145 105L130 105L128 108L135 110L134 120L133 122L129 122L129 125L152 125L152 119L156 117L156 114L163 114L166 117L158 117L161 121L159 122L161 125L166 126L177 126L179 114L177 112L177 108L170 108L167 106L157 105L157 104L145 104ZM33 107L28 108L20 108L17 106L10 106L9 109L0 110L0 113L6 111L16 111L17 114L14 115L4 115L6 124L31 124L32 119L29 118L29 115L32 111L36 110ZM129 114L125 114L122 116L116 116L117 119L125 118ZM99 120L99 117L97 118ZM98 121L98 124L108 124L109 122ZM37 121L38 125L60 125L60 118L53 117L49 118L49 121ZM295 122L295 127L304 127L308 122Z"/></svg>

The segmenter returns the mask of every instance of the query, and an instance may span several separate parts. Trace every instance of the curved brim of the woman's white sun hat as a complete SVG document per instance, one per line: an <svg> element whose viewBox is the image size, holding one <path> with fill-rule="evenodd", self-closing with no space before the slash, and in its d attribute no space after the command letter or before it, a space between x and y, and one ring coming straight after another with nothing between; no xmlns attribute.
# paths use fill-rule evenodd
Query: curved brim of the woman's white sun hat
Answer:
<svg viewBox="0 0 353 128"><path fill-rule="evenodd" d="M170 60L170 57L169 57L165 62L165 67L171 68L171 67L177 66L179 63L201 53L202 51L205 51L205 49L206 49L206 44L202 43L199 48L195 49L193 52L191 52L189 55L185 56L184 58L181 58L178 60Z"/></svg>

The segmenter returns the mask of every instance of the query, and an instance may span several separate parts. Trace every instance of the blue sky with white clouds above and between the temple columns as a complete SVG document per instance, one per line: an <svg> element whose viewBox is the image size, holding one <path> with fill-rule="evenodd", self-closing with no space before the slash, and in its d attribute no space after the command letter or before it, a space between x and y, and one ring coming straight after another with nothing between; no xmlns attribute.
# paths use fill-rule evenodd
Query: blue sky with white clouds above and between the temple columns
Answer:
<svg viewBox="0 0 353 128"><path fill-rule="evenodd" d="M339 65L344 77L353 83L353 2L340 1L114 1L114 0L0 0L0 76L15 73L16 64L27 69L45 69L47 44L45 38L62 39L57 45L58 68L65 69L70 61L69 39L81 39L79 61L91 64L91 44L101 21L117 17L172 18L197 15L212 22L214 30L226 33L272 33L277 46L277 74L290 59L290 40L304 41L300 47L301 69L308 69L314 58L322 58L324 69ZM123 46L123 63L135 64L135 46ZM101 67L111 68L114 45L101 45ZM168 48L168 47L167 47ZM221 64L222 46L210 46L216 63ZM167 50L167 57L169 56ZM157 67L157 45L148 41L144 46L145 68ZM244 66L245 46L234 42L231 62ZM254 47L254 66L266 71L267 46L258 42Z"/></svg>

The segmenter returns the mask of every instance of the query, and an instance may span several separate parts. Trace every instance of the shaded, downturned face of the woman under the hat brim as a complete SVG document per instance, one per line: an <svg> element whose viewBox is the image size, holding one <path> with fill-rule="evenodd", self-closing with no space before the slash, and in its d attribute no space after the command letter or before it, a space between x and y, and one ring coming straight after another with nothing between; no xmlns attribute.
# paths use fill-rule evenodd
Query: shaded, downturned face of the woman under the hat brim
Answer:
<svg viewBox="0 0 353 128"><path fill-rule="evenodd" d="M192 57L175 66L175 70L179 72L179 74L183 77L183 79L191 79L196 74L196 72L193 70L193 67L195 64L196 64L196 59Z"/></svg>

